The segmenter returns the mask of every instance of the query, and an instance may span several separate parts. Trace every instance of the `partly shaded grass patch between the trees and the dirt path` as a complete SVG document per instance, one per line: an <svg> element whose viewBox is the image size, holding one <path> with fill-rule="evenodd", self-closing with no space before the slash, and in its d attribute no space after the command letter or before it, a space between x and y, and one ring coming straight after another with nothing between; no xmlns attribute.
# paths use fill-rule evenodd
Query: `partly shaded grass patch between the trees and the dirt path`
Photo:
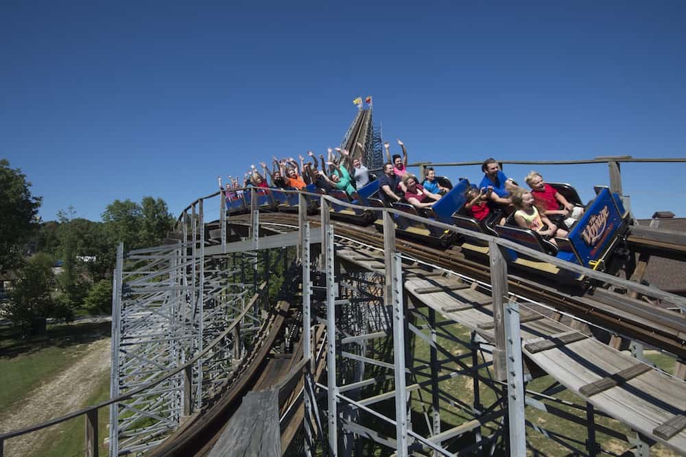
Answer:
<svg viewBox="0 0 686 457"><path fill-rule="evenodd" d="M55 325L45 335L19 338L0 329L0 411L10 410L27 394L82 355L88 343L110 334L109 323Z"/></svg>

